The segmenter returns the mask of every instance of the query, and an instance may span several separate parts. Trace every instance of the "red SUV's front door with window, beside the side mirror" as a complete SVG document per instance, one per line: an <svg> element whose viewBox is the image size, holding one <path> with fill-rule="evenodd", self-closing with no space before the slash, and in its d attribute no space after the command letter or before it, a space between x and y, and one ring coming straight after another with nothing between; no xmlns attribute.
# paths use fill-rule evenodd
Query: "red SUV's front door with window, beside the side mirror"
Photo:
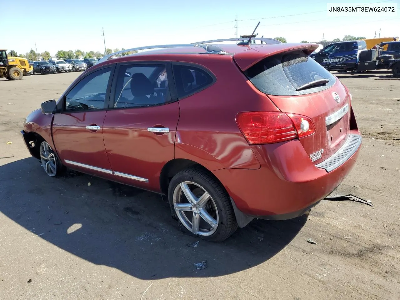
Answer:
<svg viewBox="0 0 400 300"><path fill-rule="evenodd" d="M112 174L103 141L115 65L85 74L62 96L62 112L54 115L54 145L62 163L98 176Z"/></svg>

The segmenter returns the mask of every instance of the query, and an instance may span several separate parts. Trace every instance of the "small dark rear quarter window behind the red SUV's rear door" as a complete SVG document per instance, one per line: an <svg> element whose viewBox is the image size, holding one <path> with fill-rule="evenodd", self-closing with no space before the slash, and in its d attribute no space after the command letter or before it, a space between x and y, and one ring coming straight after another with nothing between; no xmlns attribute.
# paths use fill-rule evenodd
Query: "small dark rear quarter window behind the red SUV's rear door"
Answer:
<svg viewBox="0 0 400 300"><path fill-rule="evenodd" d="M180 64L173 65L178 98L204 90L214 83L214 78L203 69Z"/></svg>

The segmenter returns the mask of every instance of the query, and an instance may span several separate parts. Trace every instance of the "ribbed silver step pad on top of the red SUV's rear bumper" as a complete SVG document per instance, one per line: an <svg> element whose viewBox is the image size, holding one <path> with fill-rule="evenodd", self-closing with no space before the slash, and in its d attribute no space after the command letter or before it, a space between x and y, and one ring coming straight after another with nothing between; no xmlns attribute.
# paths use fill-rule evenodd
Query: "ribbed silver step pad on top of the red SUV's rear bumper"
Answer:
<svg viewBox="0 0 400 300"><path fill-rule="evenodd" d="M326 172L335 170L348 160L360 148L362 137L358 134L350 134L344 145L330 158L316 164L317 168L325 169Z"/></svg>

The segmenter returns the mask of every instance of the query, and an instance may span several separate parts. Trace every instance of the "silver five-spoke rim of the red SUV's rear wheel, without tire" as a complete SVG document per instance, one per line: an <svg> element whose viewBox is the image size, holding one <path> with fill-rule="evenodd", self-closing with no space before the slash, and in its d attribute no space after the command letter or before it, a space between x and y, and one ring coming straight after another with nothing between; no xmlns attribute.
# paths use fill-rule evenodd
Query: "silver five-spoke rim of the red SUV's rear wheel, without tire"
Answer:
<svg viewBox="0 0 400 300"><path fill-rule="evenodd" d="M200 236L210 236L219 224L217 206L205 188L191 181L178 184L172 202L180 222L187 230Z"/></svg>

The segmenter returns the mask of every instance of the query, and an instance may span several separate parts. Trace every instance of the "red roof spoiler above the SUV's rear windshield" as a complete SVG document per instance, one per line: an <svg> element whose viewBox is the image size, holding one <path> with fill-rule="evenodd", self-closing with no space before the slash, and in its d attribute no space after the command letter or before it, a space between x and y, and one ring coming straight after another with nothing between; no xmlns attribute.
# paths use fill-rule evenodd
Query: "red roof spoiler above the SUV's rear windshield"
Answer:
<svg viewBox="0 0 400 300"><path fill-rule="evenodd" d="M247 70L251 66L260 62L268 56L272 56L282 52L289 52L292 50L302 50L307 55L311 54L316 48L317 44L300 44L300 43L282 43L273 45L257 45L258 47L249 48L245 51L237 52L233 58L242 71Z"/></svg>

